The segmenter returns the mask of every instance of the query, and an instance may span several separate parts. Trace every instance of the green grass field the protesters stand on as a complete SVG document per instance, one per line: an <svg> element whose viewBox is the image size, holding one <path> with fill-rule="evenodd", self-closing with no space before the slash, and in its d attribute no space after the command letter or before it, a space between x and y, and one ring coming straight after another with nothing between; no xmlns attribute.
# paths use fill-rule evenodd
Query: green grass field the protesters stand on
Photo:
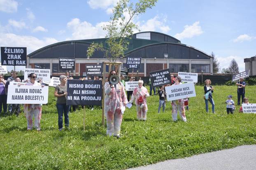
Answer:
<svg viewBox="0 0 256 170"><path fill-rule="evenodd" d="M167 159L256 144L256 114L226 113L226 96L237 102L236 86L214 86L216 114L206 113L203 86L195 86L197 97L189 100L187 123L172 122L171 104L157 113L158 96L147 103L147 121L136 120L133 106L123 115L121 138L106 136L101 125L101 110L86 109L70 113L70 131L58 131L54 88L49 88L49 103L43 106L42 131L26 131L24 113L19 117L0 117L1 170L120 170ZM256 103L256 86L246 87L246 97ZM211 104L209 104L211 111Z"/></svg>

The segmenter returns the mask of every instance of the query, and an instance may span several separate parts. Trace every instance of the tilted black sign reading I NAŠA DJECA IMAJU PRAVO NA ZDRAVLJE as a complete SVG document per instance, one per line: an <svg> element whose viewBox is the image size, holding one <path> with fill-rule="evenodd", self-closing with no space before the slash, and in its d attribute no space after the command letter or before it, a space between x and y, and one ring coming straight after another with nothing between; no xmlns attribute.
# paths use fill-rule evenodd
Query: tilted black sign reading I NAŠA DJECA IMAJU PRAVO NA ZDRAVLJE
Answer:
<svg viewBox="0 0 256 170"><path fill-rule="evenodd" d="M152 87L171 84L171 75L169 69L149 72L149 77L151 80Z"/></svg>

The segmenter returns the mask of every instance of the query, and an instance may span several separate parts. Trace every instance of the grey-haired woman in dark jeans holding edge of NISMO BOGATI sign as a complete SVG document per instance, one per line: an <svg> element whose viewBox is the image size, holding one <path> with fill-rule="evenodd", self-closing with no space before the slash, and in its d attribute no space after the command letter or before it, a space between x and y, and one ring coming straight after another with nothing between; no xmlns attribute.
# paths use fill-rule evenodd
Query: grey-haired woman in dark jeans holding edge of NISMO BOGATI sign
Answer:
<svg viewBox="0 0 256 170"><path fill-rule="evenodd" d="M70 105L66 104L67 97L67 76L60 76L61 84L55 87L54 96L57 97L56 107L58 111L58 128L59 131L63 129L63 112L65 117L65 128L69 129L69 118L68 112L70 110Z"/></svg>

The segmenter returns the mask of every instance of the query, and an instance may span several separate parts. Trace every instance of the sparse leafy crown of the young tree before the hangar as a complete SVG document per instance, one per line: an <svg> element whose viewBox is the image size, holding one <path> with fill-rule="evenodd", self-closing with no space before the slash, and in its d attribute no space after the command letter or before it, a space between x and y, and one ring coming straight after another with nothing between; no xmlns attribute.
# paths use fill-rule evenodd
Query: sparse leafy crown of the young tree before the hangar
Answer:
<svg viewBox="0 0 256 170"><path fill-rule="evenodd" d="M133 19L154 7L156 2L157 0L139 0L134 4L130 0L119 0L112 10L113 16L110 17L109 23L102 27L107 32L104 46L102 43L91 43L87 57L91 57L95 50L100 50L109 61L115 62L116 59L123 58L133 30L138 29Z"/></svg>

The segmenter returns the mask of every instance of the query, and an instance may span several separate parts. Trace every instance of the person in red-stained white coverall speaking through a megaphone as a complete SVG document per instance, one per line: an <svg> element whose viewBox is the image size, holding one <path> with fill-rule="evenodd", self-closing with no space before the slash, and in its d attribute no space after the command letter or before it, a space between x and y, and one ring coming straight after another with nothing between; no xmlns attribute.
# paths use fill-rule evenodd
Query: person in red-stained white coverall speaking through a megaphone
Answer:
<svg viewBox="0 0 256 170"><path fill-rule="evenodd" d="M120 137L123 111L128 102L123 84L119 81L115 70L111 70L105 88L105 116L107 119L107 135Z"/></svg>

